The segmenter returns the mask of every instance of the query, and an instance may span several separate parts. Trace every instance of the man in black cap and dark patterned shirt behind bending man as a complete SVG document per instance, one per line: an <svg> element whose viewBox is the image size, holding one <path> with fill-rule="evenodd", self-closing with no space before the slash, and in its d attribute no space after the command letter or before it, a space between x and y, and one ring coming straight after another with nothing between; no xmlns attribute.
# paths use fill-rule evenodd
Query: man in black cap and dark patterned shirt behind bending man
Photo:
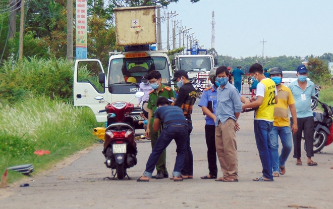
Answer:
<svg viewBox="0 0 333 209"><path fill-rule="evenodd" d="M197 92L193 87L192 83L189 81L189 77L185 70L178 70L175 72L175 77L171 81L177 81L177 86L179 87L177 100L173 102L175 106L180 107L184 116L189 124L187 145L185 151L185 161L184 168L182 170L182 178L192 179L193 178L193 154L190 146L190 134L192 132L192 120L191 114L193 110L193 105L197 98Z"/></svg>

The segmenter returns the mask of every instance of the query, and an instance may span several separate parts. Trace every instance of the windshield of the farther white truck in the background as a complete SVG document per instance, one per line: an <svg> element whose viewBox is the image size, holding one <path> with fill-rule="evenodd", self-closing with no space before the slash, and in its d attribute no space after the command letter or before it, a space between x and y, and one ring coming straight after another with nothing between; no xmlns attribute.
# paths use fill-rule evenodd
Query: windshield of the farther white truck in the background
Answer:
<svg viewBox="0 0 333 209"><path fill-rule="evenodd" d="M179 69L185 71L210 71L209 57L179 58Z"/></svg>

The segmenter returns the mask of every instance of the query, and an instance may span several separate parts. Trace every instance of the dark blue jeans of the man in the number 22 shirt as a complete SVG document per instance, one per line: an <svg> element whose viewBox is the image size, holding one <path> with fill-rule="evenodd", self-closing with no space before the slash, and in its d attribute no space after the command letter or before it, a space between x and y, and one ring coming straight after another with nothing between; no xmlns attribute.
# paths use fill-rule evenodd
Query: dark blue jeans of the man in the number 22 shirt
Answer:
<svg viewBox="0 0 333 209"><path fill-rule="evenodd" d="M264 120L254 120L254 136L259 151L259 157L262 164L263 177L273 179L272 166L270 164L271 149L270 149L270 131L273 127L273 122Z"/></svg>

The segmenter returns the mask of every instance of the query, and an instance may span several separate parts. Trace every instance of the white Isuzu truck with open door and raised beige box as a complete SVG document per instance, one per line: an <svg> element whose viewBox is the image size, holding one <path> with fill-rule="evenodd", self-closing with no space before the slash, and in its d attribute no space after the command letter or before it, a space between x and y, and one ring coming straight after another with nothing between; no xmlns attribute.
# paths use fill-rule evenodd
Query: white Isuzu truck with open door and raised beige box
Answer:
<svg viewBox="0 0 333 209"><path fill-rule="evenodd" d="M155 6L115 8L117 44L125 46L125 51L112 53L106 73L99 60L76 60L74 69L74 106L87 106L96 116L97 122L107 120L103 110L107 102L130 101L144 74L157 70L162 75L162 83L171 86L173 78L168 51L152 50L149 44L156 43ZM103 96L104 100L96 100ZM132 101L137 103L137 99ZM131 113L135 128L140 112Z"/></svg>

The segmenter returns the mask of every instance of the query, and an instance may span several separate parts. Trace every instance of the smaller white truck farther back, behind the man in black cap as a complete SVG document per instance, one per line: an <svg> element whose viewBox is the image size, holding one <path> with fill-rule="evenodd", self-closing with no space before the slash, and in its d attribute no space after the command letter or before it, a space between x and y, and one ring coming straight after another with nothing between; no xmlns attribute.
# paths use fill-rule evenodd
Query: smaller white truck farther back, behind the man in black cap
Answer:
<svg viewBox="0 0 333 209"><path fill-rule="evenodd" d="M210 83L209 71L217 66L217 59L212 55L207 55L207 49L198 49L197 44L193 44L192 49L187 49L187 55L178 55L172 60L173 69L185 70L189 79L197 77L202 84ZM205 87L205 86L204 86Z"/></svg>

